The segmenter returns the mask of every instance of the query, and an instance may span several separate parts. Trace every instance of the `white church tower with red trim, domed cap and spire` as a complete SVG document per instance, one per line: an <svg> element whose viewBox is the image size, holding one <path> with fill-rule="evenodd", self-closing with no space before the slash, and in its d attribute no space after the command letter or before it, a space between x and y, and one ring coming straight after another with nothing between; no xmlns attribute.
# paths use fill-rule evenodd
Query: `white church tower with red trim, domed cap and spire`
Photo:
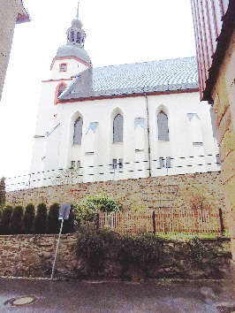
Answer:
<svg viewBox="0 0 235 313"><path fill-rule="evenodd" d="M79 18L79 4L76 18L72 19L72 26L68 28L66 36L66 44L58 48L57 55L50 65L50 79L42 80L31 172L57 168L58 156L56 155L57 149L54 147L57 140L53 137L58 133L61 122L58 114L58 97L72 84L75 75L92 67L90 57L84 49L86 33ZM55 156L48 156L48 150L54 151ZM48 160L53 160L52 164L48 164L51 162ZM40 183L42 177L34 175L34 179L39 179ZM36 182L34 186L37 186Z"/></svg>

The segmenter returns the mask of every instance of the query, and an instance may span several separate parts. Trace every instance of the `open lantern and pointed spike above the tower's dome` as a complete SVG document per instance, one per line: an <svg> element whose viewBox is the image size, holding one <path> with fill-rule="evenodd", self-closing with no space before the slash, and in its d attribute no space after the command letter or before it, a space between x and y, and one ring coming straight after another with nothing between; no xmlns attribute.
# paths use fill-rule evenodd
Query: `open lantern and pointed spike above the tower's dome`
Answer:
<svg viewBox="0 0 235 313"><path fill-rule="evenodd" d="M86 34L82 29L82 23L79 19L80 2L78 3L76 19L72 20L72 27L67 30L67 44L75 44L81 48L84 47Z"/></svg>

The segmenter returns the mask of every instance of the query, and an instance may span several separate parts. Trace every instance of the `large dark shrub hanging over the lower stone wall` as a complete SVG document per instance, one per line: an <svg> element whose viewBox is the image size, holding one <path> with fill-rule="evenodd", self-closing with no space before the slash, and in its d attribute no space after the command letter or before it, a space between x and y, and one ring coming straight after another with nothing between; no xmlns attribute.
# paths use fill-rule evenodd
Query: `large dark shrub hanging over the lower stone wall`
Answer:
<svg viewBox="0 0 235 313"><path fill-rule="evenodd" d="M160 264L164 258L162 240L152 234L122 235L95 225L81 225L76 254L89 271L102 271L105 261L114 256L128 268L131 263L145 268L148 263Z"/></svg>

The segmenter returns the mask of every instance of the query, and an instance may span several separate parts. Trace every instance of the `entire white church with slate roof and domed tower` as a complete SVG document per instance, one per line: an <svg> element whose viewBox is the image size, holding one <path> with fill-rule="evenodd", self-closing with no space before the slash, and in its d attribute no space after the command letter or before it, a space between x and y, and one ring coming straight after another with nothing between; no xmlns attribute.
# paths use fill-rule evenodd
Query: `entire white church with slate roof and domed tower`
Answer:
<svg viewBox="0 0 235 313"><path fill-rule="evenodd" d="M31 187L220 171L195 57L93 68L72 20L42 80Z"/></svg>

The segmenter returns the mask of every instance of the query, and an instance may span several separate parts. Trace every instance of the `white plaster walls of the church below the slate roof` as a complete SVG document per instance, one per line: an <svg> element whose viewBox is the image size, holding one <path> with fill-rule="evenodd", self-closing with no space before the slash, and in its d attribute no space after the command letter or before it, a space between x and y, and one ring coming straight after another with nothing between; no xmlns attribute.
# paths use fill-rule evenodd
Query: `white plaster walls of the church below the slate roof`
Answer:
<svg viewBox="0 0 235 313"><path fill-rule="evenodd" d="M51 86L55 88L54 85ZM45 88L45 92L49 93L49 87ZM54 138L55 134L53 134L49 137L54 139L47 142L43 165L46 171L54 169L56 164L58 168L69 168L72 160L76 162L80 160L81 166L84 167L82 169L84 174L87 171L95 173L95 175L84 177L84 181L148 177L149 172L146 170L148 169L148 120L152 176L220 170L216 164L207 167L207 159L198 157L206 153L212 155L217 153L212 134L209 105L200 103L199 93L149 95L148 117L145 96L58 103L56 106L51 104L52 101L54 102L52 96L50 103L47 98L48 104L44 103L46 98L45 95L42 96L41 114L42 116L44 114L44 119L47 119L46 116L48 116L48 120L42 121L42 125L38 122L38 129L42 134L42 130L54 125L51 116L53 116L55 107L56 120L57 123L60 123L57 137ZM47 110L47 107L50 109ZM157 137L156 116L161 110L168 114L169 141L159 141ZM122 114L124 118L124 141L113 143L113 118L117 113ZM197 113L200 118L198 127L201 129L201 145L193 145L193 134L190 130L187 113ZM80 145L74 146L72 145L73 125L79 116L83 118L82 140ZM144 129L140 125L134 129L135 118L145 118ZM87 133L91 122L98 122L95 134L91 129ZM141 151L136 152L136 149ZM40 154L39 150L39 148L35 148L34 158L35 155ZM94 152L94 155L86 155L86 152ZM159 156L171 156L173 158L171 160L172 167L160 169ZM113 158L116 158L117 162L119 158L123 158L124 162L124 168L117 169L115 175L110 166ZM40 158L37 156L36 166L40 163L39 160ZM94 165L95 168L87 169L89 165ZM102 166L97 167L97 165Z"/></svg>

